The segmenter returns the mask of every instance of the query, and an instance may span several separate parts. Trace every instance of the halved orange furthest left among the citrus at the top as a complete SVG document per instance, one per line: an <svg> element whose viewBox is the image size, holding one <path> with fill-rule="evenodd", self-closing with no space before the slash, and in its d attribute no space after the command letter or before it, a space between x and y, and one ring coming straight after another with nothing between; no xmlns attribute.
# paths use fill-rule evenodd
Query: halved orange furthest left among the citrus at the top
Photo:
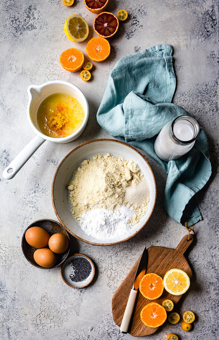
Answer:
<svg viewBox="0 0 219 340"><path fill-rule="evenodd" d="M70 72L78 71L84 64L84 60L84 54L77 48L65 50L59 59L61 66Z"/></svg>

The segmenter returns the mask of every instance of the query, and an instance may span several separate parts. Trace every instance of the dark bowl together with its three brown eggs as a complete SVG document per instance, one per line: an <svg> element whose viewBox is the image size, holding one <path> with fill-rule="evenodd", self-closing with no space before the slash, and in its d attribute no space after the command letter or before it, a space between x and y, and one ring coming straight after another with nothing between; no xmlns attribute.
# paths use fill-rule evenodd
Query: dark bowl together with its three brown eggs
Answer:
<svg viewBox="0 0 219 340"><path fill-rule="evenodd" d="M69 256L70 239L60 223L42 219L26 228L21 248L25 258L33 266L51 269L60 266Z"/></svg>

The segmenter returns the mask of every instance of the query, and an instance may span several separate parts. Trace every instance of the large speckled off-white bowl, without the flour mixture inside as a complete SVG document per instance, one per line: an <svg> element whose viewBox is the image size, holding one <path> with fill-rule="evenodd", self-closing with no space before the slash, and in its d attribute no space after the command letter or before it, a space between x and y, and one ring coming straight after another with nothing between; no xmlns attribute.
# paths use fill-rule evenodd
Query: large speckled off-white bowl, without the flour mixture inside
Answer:
<svg viewBox="0 0 219 340"><path fill-rule="evenodd" d="M111 239L97 239L94 236L88 236L81 229L78 221L76 221L71 214L70 206L68 204L68 182L72 177L72 172L77 169L84 159L90 159L96 154L106 155L111 153L117 157L124 157L125 159L133 160L137 163L147 180L150 190L150 201L148 210L125 235L111 238ZM124 242L136 235L148 222L156 202L157 188L153 171L148 164L145 157L130 145L113 139L95 139L83 143L70 151L59 164L52 183L52 203L55 214L66 230L77 237L81 241L96 244L96 245L110 245Z"/></svg>

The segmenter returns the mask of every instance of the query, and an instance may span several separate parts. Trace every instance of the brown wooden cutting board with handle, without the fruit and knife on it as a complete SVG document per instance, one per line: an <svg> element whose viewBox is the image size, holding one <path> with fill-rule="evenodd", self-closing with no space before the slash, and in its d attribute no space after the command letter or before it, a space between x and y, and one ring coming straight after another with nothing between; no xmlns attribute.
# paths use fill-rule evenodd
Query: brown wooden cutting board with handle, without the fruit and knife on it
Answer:
<svg viewBox="0 0 219 340"><path fill-rule="evenodd" d="M156 273L161 277L164 277L165 273L172 269L178 268L184 270L189 278L191 279L193 274L191 272L191 268L188 265L185 257L183 256L186 249L189 245L193 242L193 235L190 234L190 239L188 240L188 235L184 236L183 239L180 241L176 249L164 248L160 246L152 246L148 248L148 266L146 273ZM118 287L116 292L112 297L112 314L113 320L117 326L120 327L123 319L123 314L125 312L126 304L128 302L128 297L130 290L133 285L133 280L135 277L136 270L139 265L141 257L132 267L126 278L123 280L121 285ZM161 297L154 302L162 304L165 299L170 299L174 303L174 305L180 300L182 295L172 295L168 293L165 289ZM143 337L145 335L150 335L155 333L158 328L151 328L147 327L143 324L140 319L140 312L142 308L152 302L151 300L145 299L145 297L138 291L132 319L130 322L128 333L134 337ZM173 311L175 308L173 309ZM167 318L168 318L167 313Z"/></svg>

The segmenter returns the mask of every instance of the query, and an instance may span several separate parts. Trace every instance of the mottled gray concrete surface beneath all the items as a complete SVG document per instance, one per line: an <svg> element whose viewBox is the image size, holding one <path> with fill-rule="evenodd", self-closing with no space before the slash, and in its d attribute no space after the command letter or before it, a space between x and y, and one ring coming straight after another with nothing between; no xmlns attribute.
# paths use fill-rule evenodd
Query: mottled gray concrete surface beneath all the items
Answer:
<svg viewBox="0 0 219 340"><path fill-rule="evenodd" d="M45 142L11 181L1 180L0 246L0 338L6 339L132 339L119 335L111 312L114 291L140 256L145 245L175 248L186 234L183 226L166 214L162 193L166 175L147 159L158 184L155 210L146 227L127 242L100 247L72 239L72 252L90 256L97 275L86 289L71 289L60 269L39 270L26 261L21 236L31 222L56 219L51 202L51 183L60 160L80 143L109 135L96 122L96 112L117 60L153 45L174 48L177 90L174 103L189 111L205 129L210 143L213 174L197 195L203 221L195 225L196 241L188 252L194 273L191 287L178 310L196 313L194 330L185 333L180 324L165 325L150 340L166 339L176 332L180 339L218 339L218 1L217 0L109 0L108 10L125 8L130 14L110 40L111 54L94 63L92 81L82 82L78 73L61 68L59 56L70 47L85 52L86 43L74 44L65 36L68 15L77 13L90 27L95 17L83 0L67 8L61 0L1 0L0 88L1 170L34 137L26 119L30 84L66 80L87 96L90 117L83 135L69 144ZM90 29L89 37L93 30ZM139 338L140 339L140 338ZM145 338L146 339L146 338Z"/></svg>

